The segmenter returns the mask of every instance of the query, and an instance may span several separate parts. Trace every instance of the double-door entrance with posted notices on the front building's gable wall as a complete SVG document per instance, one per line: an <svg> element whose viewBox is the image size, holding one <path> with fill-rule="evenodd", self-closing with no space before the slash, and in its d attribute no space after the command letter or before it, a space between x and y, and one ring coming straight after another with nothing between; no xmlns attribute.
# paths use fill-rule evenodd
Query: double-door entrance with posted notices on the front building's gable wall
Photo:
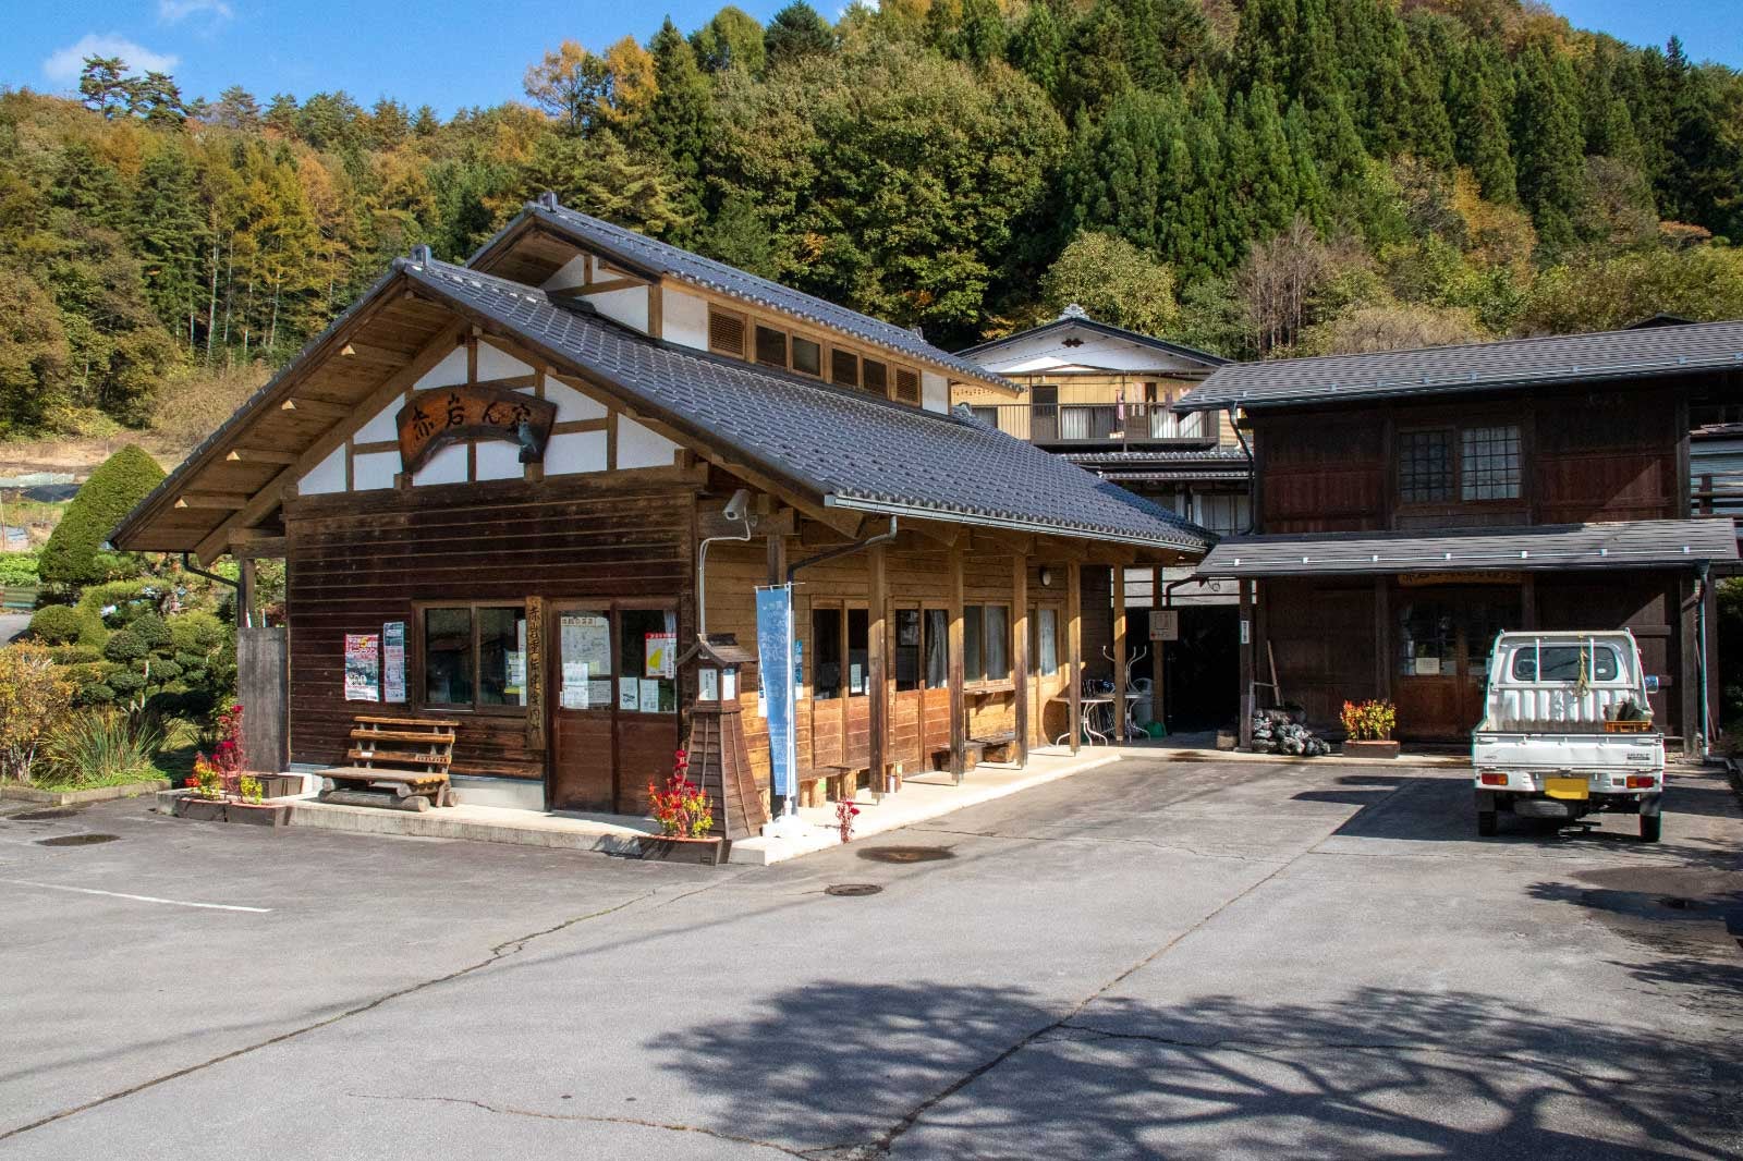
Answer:
<svg viewBox="0 0 1743 1161"><path fill-rule="evenodd" d="M546 689L554 811L645 814L678 750L678 608L553 601Z"/></svg>

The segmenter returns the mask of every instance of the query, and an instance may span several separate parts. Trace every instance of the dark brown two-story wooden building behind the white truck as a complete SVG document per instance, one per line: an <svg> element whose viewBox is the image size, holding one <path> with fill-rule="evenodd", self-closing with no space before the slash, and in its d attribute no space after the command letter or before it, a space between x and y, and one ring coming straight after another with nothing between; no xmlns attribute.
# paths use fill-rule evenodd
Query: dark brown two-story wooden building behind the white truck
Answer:
<svg viewBox="0 0 1743 1161"><path fill-rule="evenodd" d="M1389 697L1401 737L1457 741L1499 629L1628 628L1654 716L1696 748L1738 542L1691 519L1691 408L1740 357L1743 322L1719 322L1211 375L1180 408L1231 413L1255 455L1255 535L1197 568L1241 584L1241 692L1332 732L1346 699Z"/></svg>

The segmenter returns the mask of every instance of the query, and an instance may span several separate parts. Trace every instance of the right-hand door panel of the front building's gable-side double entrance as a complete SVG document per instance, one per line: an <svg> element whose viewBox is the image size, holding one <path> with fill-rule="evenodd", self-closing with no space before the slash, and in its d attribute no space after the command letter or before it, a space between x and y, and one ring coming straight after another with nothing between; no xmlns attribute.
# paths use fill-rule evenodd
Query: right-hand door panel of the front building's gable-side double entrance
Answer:
<svg viewBox="0 0 1743 1161"><path fill-rule="evenodd" d="M647 814L648 783L671 776L678 751L678 607L617 608L617 809Z"/></svg>

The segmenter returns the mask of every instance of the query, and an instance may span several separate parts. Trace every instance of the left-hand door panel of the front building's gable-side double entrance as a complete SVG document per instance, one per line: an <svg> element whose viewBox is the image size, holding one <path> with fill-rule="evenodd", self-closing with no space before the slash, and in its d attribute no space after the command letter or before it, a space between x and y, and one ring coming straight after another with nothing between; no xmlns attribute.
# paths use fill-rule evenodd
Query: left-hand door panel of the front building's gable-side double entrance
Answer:
<svg viewBox="0 0 1743 1161"><path fill-rule="evenodd" d="M614 718L617 680L612 662L612 610L598 605L551 603L546 640L551 666L546 699L551 715L553 811L615 811L617 779Z"/></svg>

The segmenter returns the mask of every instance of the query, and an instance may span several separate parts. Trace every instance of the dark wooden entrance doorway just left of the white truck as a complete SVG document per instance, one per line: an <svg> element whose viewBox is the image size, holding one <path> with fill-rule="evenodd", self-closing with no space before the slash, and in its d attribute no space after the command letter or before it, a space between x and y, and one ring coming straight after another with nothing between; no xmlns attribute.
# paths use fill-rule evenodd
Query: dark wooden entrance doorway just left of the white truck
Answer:
<svg viewBox="0 0 1743 1161"><path fill-rule="evenodd" d="M1462 741L1483 716L1495 633L1520 628L1520 594L1403 587L1394 600L1398 734Z"/></svg>

